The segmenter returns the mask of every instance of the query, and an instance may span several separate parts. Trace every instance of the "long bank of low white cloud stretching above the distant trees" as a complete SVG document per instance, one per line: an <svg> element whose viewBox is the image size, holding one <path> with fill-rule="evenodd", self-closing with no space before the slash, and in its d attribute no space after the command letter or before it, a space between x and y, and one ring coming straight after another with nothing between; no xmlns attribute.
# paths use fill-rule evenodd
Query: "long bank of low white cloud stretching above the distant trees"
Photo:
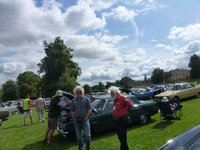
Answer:
<svg viewBox="0 0 200 150"><path fill-rule="evenodd" d="M165 46L158 45L157 47L165 48ZM115 82L124 76L134 80L143 80L144 74L150 77L155 68L161 68L165 72L177 68L188 69L190 57L194 53L200 54L200 41L189 42L184 47L173 49L173 52L170 57L165 55L149 57L146 50L138 48L133 53L119 55L115 61L89 67L81 75L80 81L98 84L100 81Z"/></svg>

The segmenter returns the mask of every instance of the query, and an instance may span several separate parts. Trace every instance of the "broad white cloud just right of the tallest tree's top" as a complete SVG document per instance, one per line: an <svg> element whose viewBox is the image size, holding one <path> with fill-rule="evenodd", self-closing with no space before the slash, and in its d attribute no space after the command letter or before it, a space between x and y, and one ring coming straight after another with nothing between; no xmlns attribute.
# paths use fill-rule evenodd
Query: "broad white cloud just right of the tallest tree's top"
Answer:
<svg viewBox="0 0 200 150"><path fill-rule="evenodd" d="M68 46L74 49L73 54L76 58L111 61L119 54L116 44L124 38L127 36L71 35L65 41Z"/></svg>

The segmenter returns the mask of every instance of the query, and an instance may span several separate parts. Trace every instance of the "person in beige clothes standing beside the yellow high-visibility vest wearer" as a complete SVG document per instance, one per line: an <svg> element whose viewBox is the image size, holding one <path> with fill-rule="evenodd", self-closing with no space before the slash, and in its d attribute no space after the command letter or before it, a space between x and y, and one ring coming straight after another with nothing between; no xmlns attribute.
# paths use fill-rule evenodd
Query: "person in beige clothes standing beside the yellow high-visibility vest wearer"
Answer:
<svg viewBox="0 0 200 150"><path fill-rule="evenodd" d="M38 97L38 99L36 99L35 101L35 109L38 113L38 117L39 117L39 122L44 122L45 119L45 107L46 107L46 103L44 98L42 98L42 96L40 95Z"/></svg>

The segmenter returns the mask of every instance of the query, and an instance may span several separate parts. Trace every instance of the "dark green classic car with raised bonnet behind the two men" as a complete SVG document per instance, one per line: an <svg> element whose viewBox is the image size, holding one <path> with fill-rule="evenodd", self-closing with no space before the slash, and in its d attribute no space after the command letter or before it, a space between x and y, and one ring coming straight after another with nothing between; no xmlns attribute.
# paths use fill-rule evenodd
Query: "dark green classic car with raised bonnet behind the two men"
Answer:
<svg viewBox="0 0 200 150"><path fill-rule="evenodd" d="M134 95L125 95L130 99L134 107L129 111L132 124L145 124L151 116L158 112L158 107L155 102L139 101ZM107 133L114 130L112 117L113 100L110 95L96 98L92 103L92 114L90 116L90 124L92 136ZM68 133L75 135L74 124L72 121L70 108L65 107L61 110L61 115L58 118L57 130L66 136Z"/></svg>

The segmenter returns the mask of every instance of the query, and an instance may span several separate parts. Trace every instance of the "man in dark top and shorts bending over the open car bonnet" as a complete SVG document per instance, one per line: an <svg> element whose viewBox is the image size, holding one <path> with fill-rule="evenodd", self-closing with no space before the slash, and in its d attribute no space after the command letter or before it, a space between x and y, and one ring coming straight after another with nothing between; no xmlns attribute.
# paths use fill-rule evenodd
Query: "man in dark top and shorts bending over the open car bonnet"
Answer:
<svg viewBox="0 0 200 150"><path fill-rule="evenodd" d="M53 144L52 137L55 129L57 128L57 119L60 115L60 106L58 103L62 97L63 93L61 90L56 92L56 95L52 98L48 113L48 128L46 129L43 142L47 142L48 145ZM49 137L48 137L49 136Z"/></svg>

